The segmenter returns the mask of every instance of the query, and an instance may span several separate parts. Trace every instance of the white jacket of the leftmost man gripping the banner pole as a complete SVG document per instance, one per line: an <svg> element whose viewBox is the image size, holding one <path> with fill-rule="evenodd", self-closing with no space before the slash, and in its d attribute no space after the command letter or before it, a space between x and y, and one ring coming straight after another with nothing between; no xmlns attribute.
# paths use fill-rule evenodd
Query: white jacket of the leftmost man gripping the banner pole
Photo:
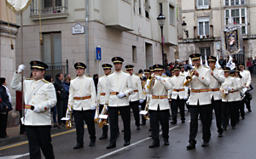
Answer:
<svg viewBox="0 0 256 159"><path fill-rule="evenodd" d="M21 91L21 74L15 73L13 80L11 82L11 88ZM30 101L28 97L32 93L34 88L37 88L37 85L41 82L44 82L38 91L32 96ZM25 125L26 126L43 126L51 125L50 118L50 109L54 107L57 103L55 87L51 82L47 82L44 79L42 80L24 80L23 82L23 93L24 93L24 102L25 105L33 105L39 108L40 112L34 112L31 109L25 109Z"/></svg>

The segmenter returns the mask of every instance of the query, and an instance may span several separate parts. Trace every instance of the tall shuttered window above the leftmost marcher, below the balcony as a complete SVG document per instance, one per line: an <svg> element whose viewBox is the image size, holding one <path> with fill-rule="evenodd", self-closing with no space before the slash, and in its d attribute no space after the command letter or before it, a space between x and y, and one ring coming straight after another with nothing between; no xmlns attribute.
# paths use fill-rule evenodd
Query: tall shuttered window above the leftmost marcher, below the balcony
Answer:
<svg viewBox="0 0 256 159"><path fill-rule="evenodd" d="M61 32L43 33L43 60L45 63L61 65Z"/></svg>

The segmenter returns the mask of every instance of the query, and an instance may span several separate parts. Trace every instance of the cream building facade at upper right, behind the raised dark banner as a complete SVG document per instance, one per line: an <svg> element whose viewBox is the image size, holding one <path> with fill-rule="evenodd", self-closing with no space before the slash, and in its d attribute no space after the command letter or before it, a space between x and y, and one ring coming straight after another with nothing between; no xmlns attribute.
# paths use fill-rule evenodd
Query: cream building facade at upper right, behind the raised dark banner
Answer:
<svg viewBox="0 0 256 159"><path fill-rule="evenodd" d="M221 30L240 26L243 54L236 60L245 63L256 55L256 0L181 0L177 3L178 54L181 60L200 53L226 56L221 48ZM230 20L232 23L230 24ZM186 29L182 27L186 24Z"/></svg>

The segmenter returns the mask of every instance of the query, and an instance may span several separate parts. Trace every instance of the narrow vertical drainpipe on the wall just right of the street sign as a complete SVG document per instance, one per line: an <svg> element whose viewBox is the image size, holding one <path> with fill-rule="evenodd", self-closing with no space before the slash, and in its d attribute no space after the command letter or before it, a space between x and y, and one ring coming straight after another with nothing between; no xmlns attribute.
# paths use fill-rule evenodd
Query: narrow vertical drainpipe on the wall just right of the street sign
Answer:
<svg viewBox="0 0 256 159"><path fill-rule="evenodd" d="M89 74L89 0L85 0L85 54L86 73Z"/></svg>

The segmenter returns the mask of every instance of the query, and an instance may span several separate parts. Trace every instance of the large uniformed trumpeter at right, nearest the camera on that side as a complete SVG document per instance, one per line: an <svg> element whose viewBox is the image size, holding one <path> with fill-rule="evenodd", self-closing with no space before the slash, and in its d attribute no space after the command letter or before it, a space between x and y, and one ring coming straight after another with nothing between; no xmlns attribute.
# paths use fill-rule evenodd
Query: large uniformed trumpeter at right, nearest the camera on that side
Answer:
<svg viewBox="0 0 256 159"><path fill-rule="evenodd" d="M201 54L190 54L192 64L195 65L195 71L190 77L186 86L190 86L191 93L187 101L190 111L190 128L189 128L189 145L188 150L195 149L195 137L198 129L198 115L201 116L202 122L202 147L209 145L211 136L210 130L210 105L211 96L207 94L209 85L211 83L211 71L204 65L201 65Z"/></svg>

